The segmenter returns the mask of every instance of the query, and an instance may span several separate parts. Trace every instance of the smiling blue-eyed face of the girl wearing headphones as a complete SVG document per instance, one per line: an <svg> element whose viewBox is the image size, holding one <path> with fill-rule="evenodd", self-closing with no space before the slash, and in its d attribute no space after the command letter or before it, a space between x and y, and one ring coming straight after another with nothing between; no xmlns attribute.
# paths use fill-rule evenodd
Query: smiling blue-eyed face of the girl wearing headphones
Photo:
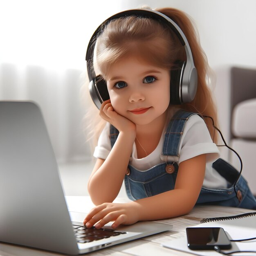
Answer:
<svg viewBox="0 0 256 256"><path fill-rule="evenodd" d="M114 110L137 125L165 115L169 106L169 70L135 57L123 58L110 68L107 86Z"/></svg>

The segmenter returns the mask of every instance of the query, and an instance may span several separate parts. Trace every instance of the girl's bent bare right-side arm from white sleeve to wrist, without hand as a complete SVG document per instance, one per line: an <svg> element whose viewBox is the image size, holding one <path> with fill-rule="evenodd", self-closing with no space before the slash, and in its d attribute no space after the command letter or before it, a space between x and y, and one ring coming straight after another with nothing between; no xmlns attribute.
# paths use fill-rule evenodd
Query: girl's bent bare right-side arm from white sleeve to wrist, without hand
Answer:
<svg viewBox="0 0 256 256"><path fill-rule="evenodd" d="M180 163L175 189L135 201L139 220L173 218L189 213L202 188L205 163L205 155Z"/></svg>

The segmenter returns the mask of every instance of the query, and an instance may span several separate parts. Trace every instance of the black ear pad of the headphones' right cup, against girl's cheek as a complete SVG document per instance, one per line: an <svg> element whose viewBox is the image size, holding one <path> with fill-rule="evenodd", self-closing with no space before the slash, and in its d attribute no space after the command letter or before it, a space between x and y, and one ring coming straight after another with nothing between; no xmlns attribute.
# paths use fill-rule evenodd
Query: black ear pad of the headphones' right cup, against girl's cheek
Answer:
<svg viewBox="0 0 256 256"><path fill-rule="evenodd" d="M175 61L171 70L170 80L170 103L173 105L182 104L182 78L186 61Z"/></svg>

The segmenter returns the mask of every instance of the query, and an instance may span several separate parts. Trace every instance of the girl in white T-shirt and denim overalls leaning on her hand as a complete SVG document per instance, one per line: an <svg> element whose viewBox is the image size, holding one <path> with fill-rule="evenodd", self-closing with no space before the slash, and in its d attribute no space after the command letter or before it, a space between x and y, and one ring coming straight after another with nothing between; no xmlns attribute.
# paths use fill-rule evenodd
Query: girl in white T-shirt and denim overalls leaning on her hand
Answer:
<svg viewBox="0 0 256 256"><path fill-rule="evenodd" d="M190 49L162 18L141 16L135 10L100 27L95 45L90 46L95 47L94 57L88 62L93 65L93 59L101 75L93 81L99 83L93 90L105 86L110 99L100 106L107 124L94 151L97 162L88 182L97 205L84 220L88 228L97 222L95 227L101 228L113 221L115 229L139 220L172 218L189 213L196 203L256 209L243 177L234 191L238 172L222 159L214 162L219 155L214 128L209 118L202 117L217 123L216 109L208 88L207 58L191 21L177 9L157 12L171 18L188 40L198 73L198 82L191 79L196 94L184 102L183 96L173 97L174 83L185 76L179 74L180 62L189 65ZM89 65L89 76L92 70ZM186 88L190 90L189 85L182 90ZM123 180L132 201L112 203Z"/></svg>

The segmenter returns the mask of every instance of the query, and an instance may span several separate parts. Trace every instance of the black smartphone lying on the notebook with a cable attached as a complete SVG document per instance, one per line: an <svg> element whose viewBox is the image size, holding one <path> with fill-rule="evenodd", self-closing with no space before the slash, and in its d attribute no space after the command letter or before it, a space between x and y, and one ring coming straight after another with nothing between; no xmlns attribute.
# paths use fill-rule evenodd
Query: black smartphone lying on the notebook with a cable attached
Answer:
<svg viewBox="0 0 256 256"><path fill-rule="evenodd" d="M230 249L231 243L221 227L187 227L186 236L191 250Z"/></svg>

